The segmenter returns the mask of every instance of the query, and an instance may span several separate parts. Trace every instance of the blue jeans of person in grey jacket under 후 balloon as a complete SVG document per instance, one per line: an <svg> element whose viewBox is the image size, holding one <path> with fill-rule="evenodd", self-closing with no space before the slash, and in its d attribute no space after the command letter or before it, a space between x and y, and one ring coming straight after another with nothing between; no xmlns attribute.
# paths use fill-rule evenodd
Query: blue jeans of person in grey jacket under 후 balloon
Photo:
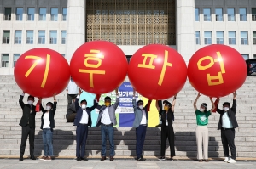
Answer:
<svg viewBox="0 0 256 169"><path fill-rule="evenodd" d="M109 145L110 145L110 156L115 155L114 154L114 143L113 143L113 126L104 126L101 125L101 132L102 132L102 156L106 156L106 141L107 136L109 139Z"/></svg>

